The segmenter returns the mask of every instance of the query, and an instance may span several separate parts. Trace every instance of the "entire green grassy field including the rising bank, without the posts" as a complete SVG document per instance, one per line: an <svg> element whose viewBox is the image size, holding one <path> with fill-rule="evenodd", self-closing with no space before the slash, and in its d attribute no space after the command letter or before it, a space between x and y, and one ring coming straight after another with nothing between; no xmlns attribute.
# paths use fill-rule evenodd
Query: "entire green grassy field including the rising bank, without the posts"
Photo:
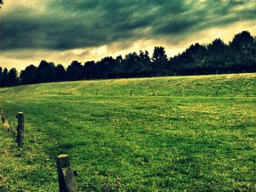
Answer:
<svg viewBox="0 0 256 192"><path fill-rule="evenodd" d="M60 153L79 191L256 191L255 85L227 74L2 88L0 191L58 191Z"/></svg>

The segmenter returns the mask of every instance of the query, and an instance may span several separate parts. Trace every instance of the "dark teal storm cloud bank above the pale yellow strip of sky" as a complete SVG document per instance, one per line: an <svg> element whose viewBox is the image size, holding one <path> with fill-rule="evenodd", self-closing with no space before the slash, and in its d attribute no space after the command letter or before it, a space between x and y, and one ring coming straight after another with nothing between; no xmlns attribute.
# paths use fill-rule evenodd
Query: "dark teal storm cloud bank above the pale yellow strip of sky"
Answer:
<svg viewBox="0 0 256 192"><path fill-rule="evenodd" d="M256 13L256 1L246 0L42 2L44 9L17 5L0 13L1 50L67 50L122 40L186 38L206 28L253 20Z"/></svg>

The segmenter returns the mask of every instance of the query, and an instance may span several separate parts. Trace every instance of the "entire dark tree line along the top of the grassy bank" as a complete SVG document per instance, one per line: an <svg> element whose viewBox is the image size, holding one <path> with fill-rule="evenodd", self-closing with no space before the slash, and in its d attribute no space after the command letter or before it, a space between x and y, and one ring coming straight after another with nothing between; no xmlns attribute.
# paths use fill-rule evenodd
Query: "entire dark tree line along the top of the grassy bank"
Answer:
<svg viewBox="0 0 256 192"><path fill-rule="evenodd" d="M256 72L256 38L249 31L236 34L228 44L214 39L207 45L195 43L183 53L167 58L164 47L128 53L116 58L107 56L100 61L78 61L64 68L61 64L42 60L39 66L29 65L18 72L0 67L0 86L26 85L41 82L113 79L127 77L154 77L165 75L192 75Z"/></svg>

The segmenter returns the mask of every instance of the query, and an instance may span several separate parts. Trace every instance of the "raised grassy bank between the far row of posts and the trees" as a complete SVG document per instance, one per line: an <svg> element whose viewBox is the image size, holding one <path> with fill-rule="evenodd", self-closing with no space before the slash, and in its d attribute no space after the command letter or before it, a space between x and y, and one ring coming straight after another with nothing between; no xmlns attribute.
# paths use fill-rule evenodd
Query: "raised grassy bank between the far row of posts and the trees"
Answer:
<svg viewBox="0 0 256 192"><path fill-rule="evenodd" d="M119 80L51 82L0 89L1 93L70 94L83 96L255 96L255 74L151 77Z"/></svg>

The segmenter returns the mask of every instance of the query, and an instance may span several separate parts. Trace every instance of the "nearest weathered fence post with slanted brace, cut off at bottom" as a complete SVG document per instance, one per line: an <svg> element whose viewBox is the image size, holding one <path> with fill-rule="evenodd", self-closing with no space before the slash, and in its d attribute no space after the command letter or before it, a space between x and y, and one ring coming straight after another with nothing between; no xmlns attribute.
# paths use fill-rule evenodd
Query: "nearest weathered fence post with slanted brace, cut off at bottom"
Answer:
<svg viewBox="0 0 256 192"><path fill-rule="evenodd" d="M76 192L78 188L75 184L74 173L69 167L69 156L66 154L58 155L57 171L59 178L60 192Z"/></svg>

